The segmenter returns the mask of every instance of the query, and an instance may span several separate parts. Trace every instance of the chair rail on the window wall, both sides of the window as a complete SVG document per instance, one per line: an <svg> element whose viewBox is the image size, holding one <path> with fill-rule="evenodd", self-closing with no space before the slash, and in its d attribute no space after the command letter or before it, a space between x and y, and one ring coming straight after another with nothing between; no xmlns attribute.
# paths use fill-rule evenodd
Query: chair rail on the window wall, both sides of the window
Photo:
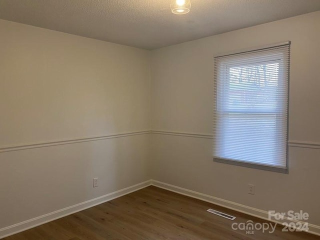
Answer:
<svg viewBox="0 0 320 240"><path fill-rule="evenodd" d="M198 137L198 138L208 138L208 139L213 138L212 135L203 134L203 133L161 131L161 130L151 130L150 132L154 134L173 135L173 136L188 136L188 137ZM320 148L320 142L289 140L288 146L304 147L304 148Z"/></svg>

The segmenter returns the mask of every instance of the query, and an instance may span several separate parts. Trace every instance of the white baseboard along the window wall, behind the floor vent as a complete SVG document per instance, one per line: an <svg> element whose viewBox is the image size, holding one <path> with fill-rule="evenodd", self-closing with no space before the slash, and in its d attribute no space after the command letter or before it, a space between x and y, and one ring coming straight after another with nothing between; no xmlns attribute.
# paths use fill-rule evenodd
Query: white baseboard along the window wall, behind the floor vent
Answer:
<svg viewBox="0 0 320 240"><path fill-rule="evenodd" d="M236 203L236 202L225 200L222 198L210 196L207 194L203 194L203 193L189 190L186 188L182 188L179 186L171 185L171 184L164 183L161 181L157 181L157 180L150 180L150 181L151 181L151 185L153 185L153 186L160 187L160 188L163 188L163 189L166 189L169 191L173 191L173 192L176 192L176 193L179 193L182 195L190 196L190 197L193 197L193 198L196 198L199 200L203 200L206 202L210 202L215 205L219 205L219 206L222 206L222 207L225 207L228 209L239 211L239 212L242 212L242 213L245 213L245 214L248 214L251 216L255 216L255 217L258 217L258 218L261 218L264 220L272 221L272 222L275 222L278 224L282 224L282 222L290 222L290 221L300 222L302 224L305 223L302 221L289 220L286 217L284 217L283 220L278 220L278 221L273 220L273 219L270 220L270 219L268 219L268 212L265 210L253 208L253 207L246 206L246 205L243 205L240 203ZM309 227L308 233L320 236L320 226L308 223L308 227Z"/></svg>

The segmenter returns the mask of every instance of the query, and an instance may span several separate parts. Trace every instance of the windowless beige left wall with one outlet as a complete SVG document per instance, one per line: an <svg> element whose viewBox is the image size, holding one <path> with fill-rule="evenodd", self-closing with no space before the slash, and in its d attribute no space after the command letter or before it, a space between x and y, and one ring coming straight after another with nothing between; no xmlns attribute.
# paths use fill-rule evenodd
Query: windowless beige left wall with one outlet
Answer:
<svg viewBox="0 0 320 240"><path fill-rule="evenodd" d="M149 95L149 51L0 20L1 149L148 130ZM148 137L0 152L0 228L149 179Z"/></svg>

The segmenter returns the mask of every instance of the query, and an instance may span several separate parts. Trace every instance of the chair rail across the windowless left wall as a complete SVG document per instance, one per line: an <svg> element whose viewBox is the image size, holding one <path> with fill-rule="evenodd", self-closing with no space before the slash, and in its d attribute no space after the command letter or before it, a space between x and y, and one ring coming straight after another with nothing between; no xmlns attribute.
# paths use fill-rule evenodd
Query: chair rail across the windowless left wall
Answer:
<svg viewBox="0 0 320 240"><path fill-rule="evenodd" d="M141 134L147 134L147 133L150 133L150 131L149 130L132 131L132 132L125 132L125 133L107 134L103 136L80 137L80 138L58 140L58 141L46 141L46 142L20 144L20 145L2 146L0 147L0 152L17 151L17 150L46 147L46 146L64 145L64 144L71 144L71 143L78 143L78 142L85 142L85 141L97 141L97 140L104 140L109 138L134 136L134 135L141 135Z"/></svg>

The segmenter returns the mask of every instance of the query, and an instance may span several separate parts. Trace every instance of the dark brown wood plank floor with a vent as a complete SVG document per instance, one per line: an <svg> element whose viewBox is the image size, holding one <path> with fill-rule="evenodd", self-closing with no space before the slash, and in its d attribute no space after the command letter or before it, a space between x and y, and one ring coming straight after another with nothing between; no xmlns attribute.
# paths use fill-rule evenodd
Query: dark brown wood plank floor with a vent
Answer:
<svg viewBox="0 0 320 240"><path fill-rule="evenodd" d="M232 221L214 215L206 211L208 208L234 215L236 219ZM273 233L254 230L254 234L246 234L245 230L232 230L232 223L247 220L254 223L265 222L211 203L149 186L3 239L320 239L319 236L305 232L282 232L282 226L277 226Z"/></svg>

